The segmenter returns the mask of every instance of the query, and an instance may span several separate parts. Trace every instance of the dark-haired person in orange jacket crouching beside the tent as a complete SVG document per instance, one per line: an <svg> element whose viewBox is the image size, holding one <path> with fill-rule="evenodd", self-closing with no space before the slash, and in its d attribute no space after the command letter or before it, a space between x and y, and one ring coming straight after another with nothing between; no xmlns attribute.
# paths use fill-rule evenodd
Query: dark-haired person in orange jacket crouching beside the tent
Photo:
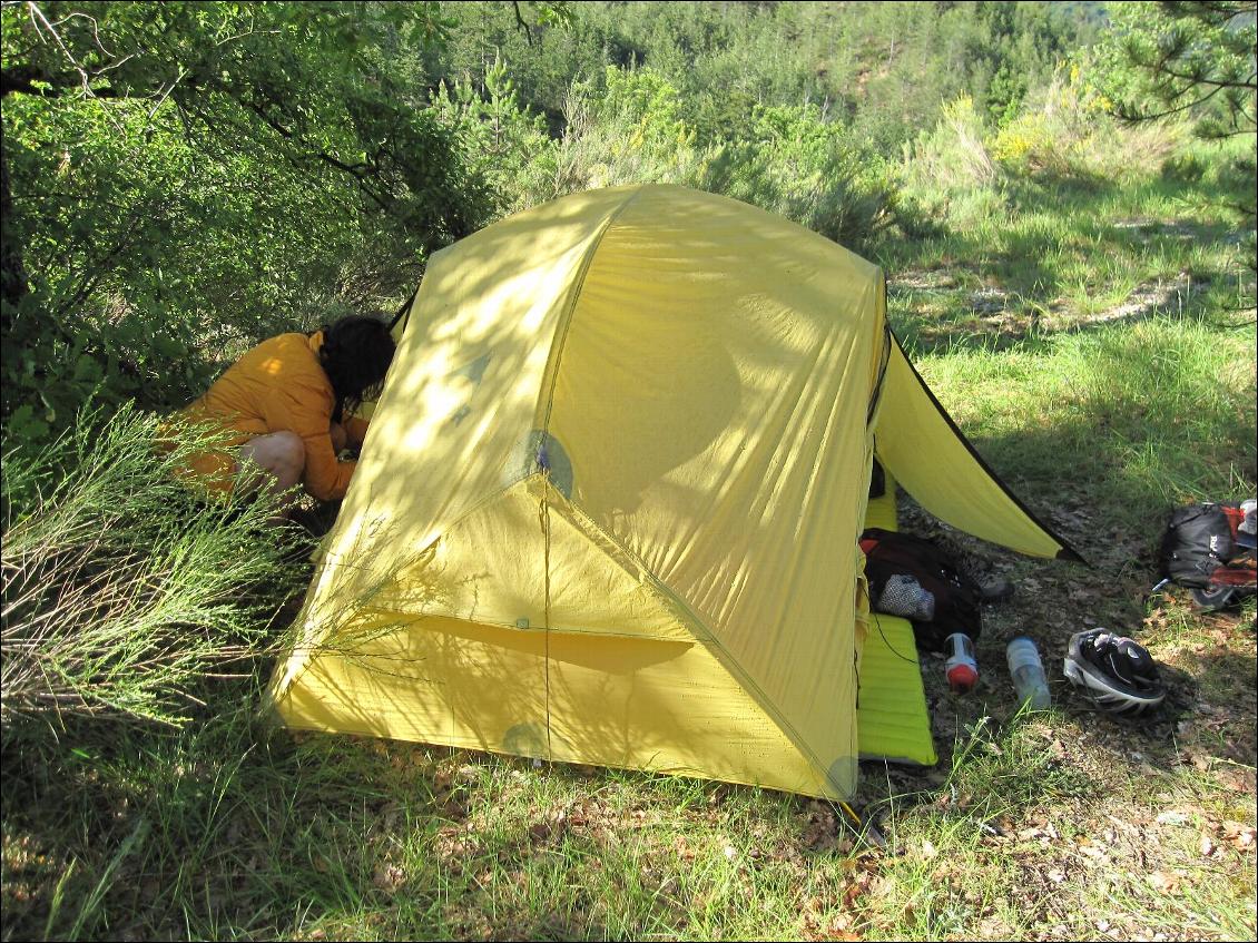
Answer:
<svg viewBox="0 0 1258 943"><path fill-rule="evenodd" d="M263 341L179 414L228 435L194 456L189 475L211 492L284 492L299 482L318 500L340 500L357 463L337 455L361 445L367 427L351 414L384 382L392 356L389 327L357 314Z"/></svg>

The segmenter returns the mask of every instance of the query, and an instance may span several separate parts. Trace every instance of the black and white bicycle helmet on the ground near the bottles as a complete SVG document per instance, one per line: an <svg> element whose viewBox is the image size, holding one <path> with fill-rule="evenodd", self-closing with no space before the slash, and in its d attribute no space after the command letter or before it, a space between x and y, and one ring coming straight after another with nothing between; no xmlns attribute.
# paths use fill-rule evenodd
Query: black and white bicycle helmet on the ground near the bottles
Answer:
<svg viewBox="0 0 1258 943"><path fill-rule="evenodd" d="M1093 707L1106 713L1136 717L1166 698L1157 663L1149 651L1106 629L1072 635L1062 670Z"/></svg>

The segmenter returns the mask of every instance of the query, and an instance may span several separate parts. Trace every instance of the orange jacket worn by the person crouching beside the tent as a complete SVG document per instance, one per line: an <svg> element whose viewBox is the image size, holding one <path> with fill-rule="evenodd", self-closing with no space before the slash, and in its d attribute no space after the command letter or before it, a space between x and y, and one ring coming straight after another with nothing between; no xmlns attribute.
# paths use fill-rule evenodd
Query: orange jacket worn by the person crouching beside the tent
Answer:
<svg viewBox="0 0 1258 943"><path fill-rule="evenodd" d="M306 444L302 484L320 500L345 497L356 461L337 461L328 434L336 395L318 361L323 332L292 333L263 341L220 376L209 391L181 411L191 422L239 431L230 443L240 445L270 433L296 433ZM367 424L357 417L345 422L351 443L361 444ZM228 464L230 463L230 464ZM192 472L214 490L230 490L234 459L205 454L191 463Z"/></svg>

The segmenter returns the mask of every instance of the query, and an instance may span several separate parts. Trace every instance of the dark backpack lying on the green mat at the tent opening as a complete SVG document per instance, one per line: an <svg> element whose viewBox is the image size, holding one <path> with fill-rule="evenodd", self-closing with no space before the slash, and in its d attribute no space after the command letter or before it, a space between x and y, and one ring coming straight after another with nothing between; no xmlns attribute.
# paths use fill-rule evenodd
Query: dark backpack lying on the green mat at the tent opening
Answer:
<svg viewBox="0 0 1258 943"><path fill-rule="evenodd" d="M935 597L935 615L928 620L910 619L918 648L944 651L952 632L971 639L982 634L982 593L979 585L962 573L940 547L911 534L871 527L860 534L866 554L866 578L874 611L887 581L912 576Z"/></svg>

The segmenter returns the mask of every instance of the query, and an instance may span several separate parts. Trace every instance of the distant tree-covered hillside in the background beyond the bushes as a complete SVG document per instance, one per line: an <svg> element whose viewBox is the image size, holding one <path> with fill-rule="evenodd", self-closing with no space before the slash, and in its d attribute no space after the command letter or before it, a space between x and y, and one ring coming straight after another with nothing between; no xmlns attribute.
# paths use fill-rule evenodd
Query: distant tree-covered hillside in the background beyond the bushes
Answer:
<svg viewBox="0 0 1258 943"><path fill-rule="evenodd" d="M473 80L499 57L554 133L574 78L650 67L678 91L701 141L760 106L815 104L894 153L969 93L1015 111L1091 21L1039 3L581 3L533 45L496 4L447 4L449 44L430 67Z"/></svg>

